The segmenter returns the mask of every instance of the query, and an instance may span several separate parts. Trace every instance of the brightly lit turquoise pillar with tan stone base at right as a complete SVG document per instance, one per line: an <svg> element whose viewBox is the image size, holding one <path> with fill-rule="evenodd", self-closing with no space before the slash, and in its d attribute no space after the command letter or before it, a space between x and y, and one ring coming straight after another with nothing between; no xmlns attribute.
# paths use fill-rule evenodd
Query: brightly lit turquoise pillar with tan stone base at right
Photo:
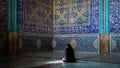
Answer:
<svg viewBox="0 0 120 68"><path fill-rule="evenodd" d="M109 0L100 0L100 54L109 55Z"/></svg>

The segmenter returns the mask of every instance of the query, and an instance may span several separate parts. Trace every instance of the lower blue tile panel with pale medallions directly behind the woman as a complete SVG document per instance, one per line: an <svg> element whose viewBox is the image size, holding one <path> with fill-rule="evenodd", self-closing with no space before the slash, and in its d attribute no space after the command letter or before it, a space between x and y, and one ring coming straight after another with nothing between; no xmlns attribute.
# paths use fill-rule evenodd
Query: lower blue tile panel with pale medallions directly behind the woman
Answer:
<svg viewBox="0 0 120 68"><path fill-rule="evenodd" d="M71 40L74 39L75 51L81 52L99 52L99 37L98 36L79 36L79 37L55 37L56 48L55 50L65 50L65 46L71 43Z"/></svg>

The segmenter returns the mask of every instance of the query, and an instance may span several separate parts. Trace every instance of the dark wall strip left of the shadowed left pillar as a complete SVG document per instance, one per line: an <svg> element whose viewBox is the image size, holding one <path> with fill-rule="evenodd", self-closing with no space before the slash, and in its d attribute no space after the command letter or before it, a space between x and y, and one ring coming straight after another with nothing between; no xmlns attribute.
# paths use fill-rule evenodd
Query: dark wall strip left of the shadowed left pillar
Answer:
<svg viewBox="0 0 120 68"><path fill-rule="evenodd" d="M7 50L7 0L0 0L0 54Z"/></svg>

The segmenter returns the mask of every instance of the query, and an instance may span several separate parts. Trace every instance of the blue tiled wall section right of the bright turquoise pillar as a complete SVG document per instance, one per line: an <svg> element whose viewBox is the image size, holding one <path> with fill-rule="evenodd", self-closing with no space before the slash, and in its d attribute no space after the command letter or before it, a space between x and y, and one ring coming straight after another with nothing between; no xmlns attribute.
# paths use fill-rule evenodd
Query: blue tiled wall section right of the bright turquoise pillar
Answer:
<svg viewBox="0 0 120 68"><path fill-rule="evenodd" d="M111 53L120 53L120 0L109 0Z"/></svg>

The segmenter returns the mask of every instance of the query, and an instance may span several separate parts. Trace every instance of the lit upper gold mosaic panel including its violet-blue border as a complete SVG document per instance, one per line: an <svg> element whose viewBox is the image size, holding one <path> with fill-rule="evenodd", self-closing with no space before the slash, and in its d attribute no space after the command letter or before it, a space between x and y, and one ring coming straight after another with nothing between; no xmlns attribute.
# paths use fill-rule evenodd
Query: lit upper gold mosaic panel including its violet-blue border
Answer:
<svg viewBox="0 0 120 68"><path fill-rule="evenodd" d="M99 0L55 0L54 34L99 33Z"/></svg>

